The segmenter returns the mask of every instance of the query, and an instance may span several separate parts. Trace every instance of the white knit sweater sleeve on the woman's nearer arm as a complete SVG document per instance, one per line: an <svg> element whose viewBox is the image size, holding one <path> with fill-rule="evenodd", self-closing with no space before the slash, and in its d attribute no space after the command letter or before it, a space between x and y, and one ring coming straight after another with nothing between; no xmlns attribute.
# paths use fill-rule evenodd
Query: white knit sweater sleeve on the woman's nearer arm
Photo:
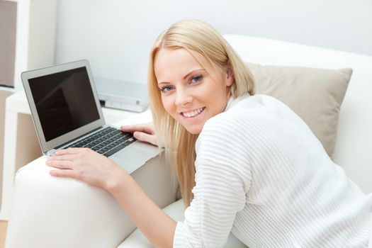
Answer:
<svg viewBox="0 0 372 248"><path fill-rule="evenodd" d="M227 242L251 179L240 130L226 115L205 123L196 144L194 198L184 222L176 225L174 247L222 247Z"/></svg>

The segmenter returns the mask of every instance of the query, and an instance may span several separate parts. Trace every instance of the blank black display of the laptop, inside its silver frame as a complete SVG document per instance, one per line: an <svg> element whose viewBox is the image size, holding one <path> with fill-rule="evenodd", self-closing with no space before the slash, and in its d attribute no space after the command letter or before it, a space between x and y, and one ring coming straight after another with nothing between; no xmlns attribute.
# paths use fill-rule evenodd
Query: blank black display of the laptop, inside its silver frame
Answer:
<svg viewBox="0 0 372 248"><path fill-rule="evenodd" d="M28 79L45 141L99 119L86 67Z"/></svg>

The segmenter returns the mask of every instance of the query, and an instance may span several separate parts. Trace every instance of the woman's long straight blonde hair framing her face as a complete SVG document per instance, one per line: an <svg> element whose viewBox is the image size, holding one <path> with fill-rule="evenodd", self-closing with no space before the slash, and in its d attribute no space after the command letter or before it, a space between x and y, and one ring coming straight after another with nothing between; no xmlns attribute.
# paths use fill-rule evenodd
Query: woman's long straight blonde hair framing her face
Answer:
<svg viewBox="0 0 372 248"><path fill-rule="evenodd" d="M167 113L162 104L162 96L154 73L154 59L162 49L192 50L208 59L213 67L230 65L235 82L230 87L232 97L254 94L254 79L244 62L208 23L198 20L184 20L174 23L165 30L154 43L150 52L148 90L151 99L152 118L158 144L164 146L167 164L171 166L174 178L178 179L182 198L186 206L193 198L195 186L196 159L195 143L198 135L188 131Z"/></svg>

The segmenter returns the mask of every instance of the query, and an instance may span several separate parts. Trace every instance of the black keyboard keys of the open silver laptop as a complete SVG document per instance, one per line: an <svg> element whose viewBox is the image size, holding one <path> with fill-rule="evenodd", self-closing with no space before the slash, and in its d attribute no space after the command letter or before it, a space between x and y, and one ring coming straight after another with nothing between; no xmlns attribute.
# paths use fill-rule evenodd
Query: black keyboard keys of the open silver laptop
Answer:
<svg viewBox="0 0 372 248"><path fill-rule="evenodd" d="M131 133L123 133L116 128L106 127L98 133L94 133L83 140L79 140L68 147L88 147L103 156L111 156L115 152L122 150L130 143L135 142L135 137Z"/></svg>

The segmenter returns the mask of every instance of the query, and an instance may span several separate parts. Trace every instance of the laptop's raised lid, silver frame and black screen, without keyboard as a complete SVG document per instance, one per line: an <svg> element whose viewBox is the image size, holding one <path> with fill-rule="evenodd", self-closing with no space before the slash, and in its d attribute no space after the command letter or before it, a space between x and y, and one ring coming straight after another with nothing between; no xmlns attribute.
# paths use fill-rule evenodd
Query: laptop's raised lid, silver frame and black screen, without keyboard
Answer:
<svg viewBox="0 0 372 248"><path fill-rule="evenodd" d="M21 74L44 153L105 125L87 60Z"/></svg>

